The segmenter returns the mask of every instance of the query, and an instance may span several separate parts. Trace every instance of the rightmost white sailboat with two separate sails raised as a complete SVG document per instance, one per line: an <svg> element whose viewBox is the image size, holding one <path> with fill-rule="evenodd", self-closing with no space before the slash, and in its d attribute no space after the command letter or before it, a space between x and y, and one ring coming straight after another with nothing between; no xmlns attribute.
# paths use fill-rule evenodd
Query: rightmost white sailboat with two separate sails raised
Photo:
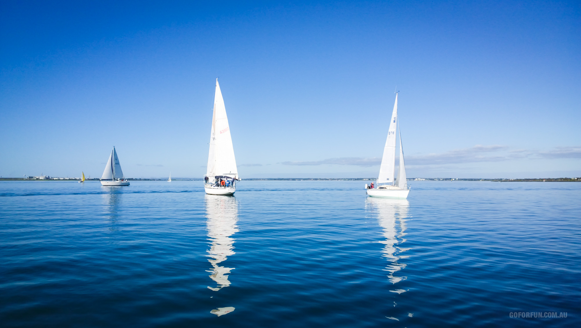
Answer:
<svg viewBox="0 0 581 328"><path fill-rule="evenodd" d="M401 131L399 131L399 172L396 177L396 130L399 130L398 127L396 92L396 102L393 104L393 113L389 120L388 139L385 141L385 148L383 148L383 158L381 159L381 167L379 168L379 176L377 177L377 186L375 186L376 188L368 188L367 184L365 184L367 194L370 196L405 199L407 198L407 194L410 193L410 187L407 186L406 166L403 161Z"/></svg>

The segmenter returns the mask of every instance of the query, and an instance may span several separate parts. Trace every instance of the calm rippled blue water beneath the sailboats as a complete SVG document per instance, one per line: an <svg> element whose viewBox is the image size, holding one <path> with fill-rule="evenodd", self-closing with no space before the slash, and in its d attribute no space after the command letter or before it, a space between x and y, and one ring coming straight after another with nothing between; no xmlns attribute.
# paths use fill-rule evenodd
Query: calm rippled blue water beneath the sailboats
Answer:
<svg viewBox="0 0 581 328"><path fill-rule="evenodd" d="M0 182L0 326L581 326L581 183L411 184Z"/></svg>

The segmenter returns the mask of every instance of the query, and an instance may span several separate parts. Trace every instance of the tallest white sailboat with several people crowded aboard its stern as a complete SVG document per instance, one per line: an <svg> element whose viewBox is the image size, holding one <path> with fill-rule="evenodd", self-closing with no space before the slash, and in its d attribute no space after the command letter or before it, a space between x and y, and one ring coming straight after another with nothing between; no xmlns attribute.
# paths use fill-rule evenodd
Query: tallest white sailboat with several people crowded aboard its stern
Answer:
<svg viewBox="0 0 581 328"><path fill-rule="evenodd" d="M226 107L218 79L216 79L213 111L210 152L204 176L204 189L206 194L232 195L236 191L236 181L240 179L238 177L238 169L236 169L236 159L234 158L234 147L232 147Z"/></svg>

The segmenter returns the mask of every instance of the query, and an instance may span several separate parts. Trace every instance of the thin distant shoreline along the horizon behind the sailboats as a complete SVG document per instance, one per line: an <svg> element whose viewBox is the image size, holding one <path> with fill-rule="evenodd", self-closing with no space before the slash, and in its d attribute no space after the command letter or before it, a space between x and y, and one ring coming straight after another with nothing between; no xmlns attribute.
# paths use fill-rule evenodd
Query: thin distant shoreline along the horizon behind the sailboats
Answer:
<svg viewBox="0 0 581 328"><path fill-rule="evenodd" d="M79 178L0 178L0 181L79 181ZM129 181L167 181L167 178L128 178ZM172 178L173 181L202 181L201 178ZM249 178L250 181L375 181L376 178ZM99 181L99 179L85 179L85 181ZM575 178L539 178L539 179L456 179L456 178L410 178L407 181L490 181L490 182L581 182L581 177Z"/></svg>

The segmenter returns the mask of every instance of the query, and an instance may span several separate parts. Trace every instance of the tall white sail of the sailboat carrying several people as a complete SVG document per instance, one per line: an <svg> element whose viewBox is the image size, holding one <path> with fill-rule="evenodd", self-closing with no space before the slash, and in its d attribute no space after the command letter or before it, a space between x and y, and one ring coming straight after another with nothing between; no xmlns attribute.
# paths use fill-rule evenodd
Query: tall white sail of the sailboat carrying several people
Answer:
<svg viewBox="0 0 581 328"><path fill-rule="evenodd" d="M238 179L238 169L236 169L236 159L234 158L234 147L232 147L226 107L217 79L206 176L210 177L210 179L214 176L229 176Z"/></svg>

